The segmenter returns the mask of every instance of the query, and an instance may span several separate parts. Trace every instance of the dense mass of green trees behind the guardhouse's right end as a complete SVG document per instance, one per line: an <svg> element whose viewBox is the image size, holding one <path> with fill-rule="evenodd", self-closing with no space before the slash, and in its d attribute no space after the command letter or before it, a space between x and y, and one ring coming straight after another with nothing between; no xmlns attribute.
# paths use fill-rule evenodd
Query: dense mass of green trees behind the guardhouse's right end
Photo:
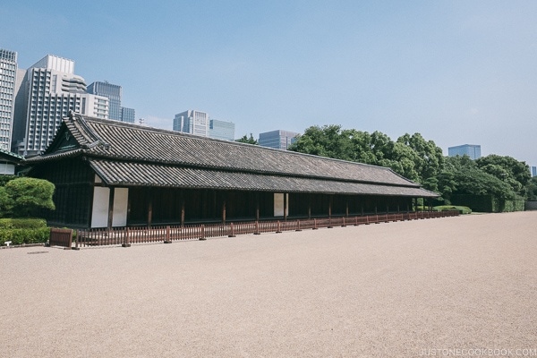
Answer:
<svg viewBox="0 0 537 358"><path fill-rule="evenodd" d="M533 193L529 167L515 158L490 155L475 161L465 157L447 158L434 141L420 133L392 141L382 132L343 129L341 125L311 126L299 135L289 150L387 166L399 175L439 192L449 201L453 194L491 194L511 200ZM532 186L533 185L533 186ZM533 193L537 196L537 192Z"/></svg>

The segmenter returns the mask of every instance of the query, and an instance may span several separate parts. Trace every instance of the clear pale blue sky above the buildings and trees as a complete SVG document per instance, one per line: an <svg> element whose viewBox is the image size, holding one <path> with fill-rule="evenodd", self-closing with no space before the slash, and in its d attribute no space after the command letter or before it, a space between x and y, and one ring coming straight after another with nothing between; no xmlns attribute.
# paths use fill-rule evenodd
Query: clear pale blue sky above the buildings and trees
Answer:
<svg viewBox="0 0 537 358"><path fill-rule="evenodd" d="M152 126L420 132L537 166L537 1L18 0L0 19L21 68L70 58Z"/></svg>

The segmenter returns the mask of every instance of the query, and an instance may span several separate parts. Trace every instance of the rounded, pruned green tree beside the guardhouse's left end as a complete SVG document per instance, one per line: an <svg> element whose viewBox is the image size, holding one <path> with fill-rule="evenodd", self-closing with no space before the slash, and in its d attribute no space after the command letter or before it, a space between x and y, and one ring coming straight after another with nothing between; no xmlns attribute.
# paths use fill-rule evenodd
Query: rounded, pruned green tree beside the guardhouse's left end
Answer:
<svg viewBox="0 0 537 358"><path fill-rule="evenodd" d="M12 200L15 217L30 217L38 209L55 209L52 200L55 186L47 180L29 177L13 179L5 184L4 191Z"/></svg>

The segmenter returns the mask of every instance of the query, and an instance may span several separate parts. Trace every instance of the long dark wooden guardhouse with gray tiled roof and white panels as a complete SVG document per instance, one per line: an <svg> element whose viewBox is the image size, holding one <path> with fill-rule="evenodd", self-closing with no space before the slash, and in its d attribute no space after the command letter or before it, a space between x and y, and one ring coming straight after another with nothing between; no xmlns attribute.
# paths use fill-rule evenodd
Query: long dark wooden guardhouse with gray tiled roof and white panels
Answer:
<svg viewBox="0 0 537 358"><path fill-rule="evenodd" d="M389 168L71 114L29 158L77 228L413 211L429 192Z"/></svg>

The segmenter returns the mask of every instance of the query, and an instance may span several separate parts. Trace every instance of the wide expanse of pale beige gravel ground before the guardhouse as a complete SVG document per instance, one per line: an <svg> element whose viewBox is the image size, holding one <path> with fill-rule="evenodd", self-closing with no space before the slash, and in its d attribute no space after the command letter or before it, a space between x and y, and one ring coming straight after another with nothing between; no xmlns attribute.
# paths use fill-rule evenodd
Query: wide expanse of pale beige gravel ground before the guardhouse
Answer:
<svg viewBox="0 0 537 358"><path fill-rule="evenodd" d="M0 251L0 280L3 357L537 349L535 211L130 248L16 248Z"/></svg>

